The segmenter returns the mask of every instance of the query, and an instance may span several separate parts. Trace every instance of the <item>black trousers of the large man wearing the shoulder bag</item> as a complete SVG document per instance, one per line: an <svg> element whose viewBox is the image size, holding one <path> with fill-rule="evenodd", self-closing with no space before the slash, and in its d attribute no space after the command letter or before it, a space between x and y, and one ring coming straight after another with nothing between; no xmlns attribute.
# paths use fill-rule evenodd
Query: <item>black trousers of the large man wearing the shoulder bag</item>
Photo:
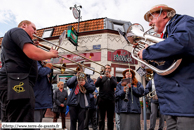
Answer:
<svg viewBox="0 0 194 130"><path fill-rule="evenodd" d="M7 100L7 90L0 91L2 122L34 122L34 91L30 87L30 99Z"/></svg>

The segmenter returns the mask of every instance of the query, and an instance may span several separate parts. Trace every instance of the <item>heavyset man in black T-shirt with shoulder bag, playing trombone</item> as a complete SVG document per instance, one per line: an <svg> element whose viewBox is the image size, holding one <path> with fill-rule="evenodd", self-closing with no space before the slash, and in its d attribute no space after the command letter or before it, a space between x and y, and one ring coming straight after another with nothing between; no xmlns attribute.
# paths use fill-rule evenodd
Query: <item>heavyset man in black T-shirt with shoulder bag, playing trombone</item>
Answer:
<svg viewBox="0 0 194 130"><path fill-rule="evenodd" d="M33 34L36 34L35 24L24 20L19 23L17 28L7 31L3 37L2 68L0 70L2 122L34 122L33 87L38 75L36 60L58 57L56 50L51 49L50 52L46 52L33 45ZM29 82L26 79L25 82L29 84L25 86L25 91L21 92L22 97L17 97L16 92L8 87L7 75L12 75L11 73L19 76L23 73L28 75ZM20 88L22 87L24 88L24 86L20 86Z"/></svg>

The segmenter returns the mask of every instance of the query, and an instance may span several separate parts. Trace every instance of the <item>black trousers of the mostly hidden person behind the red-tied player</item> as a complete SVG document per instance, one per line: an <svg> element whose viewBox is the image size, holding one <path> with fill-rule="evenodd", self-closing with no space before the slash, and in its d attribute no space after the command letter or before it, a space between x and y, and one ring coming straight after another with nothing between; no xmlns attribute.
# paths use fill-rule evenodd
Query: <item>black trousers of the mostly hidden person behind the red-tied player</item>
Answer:
<svg viewBox="0 0 194 130"><path fill-rule="evenodd" d="M86 110L86 118L84 120L84 130L89 130L88 128L89 119L91 119L93 130L97 130L97 110L96 109L89 108Z"/></svg>

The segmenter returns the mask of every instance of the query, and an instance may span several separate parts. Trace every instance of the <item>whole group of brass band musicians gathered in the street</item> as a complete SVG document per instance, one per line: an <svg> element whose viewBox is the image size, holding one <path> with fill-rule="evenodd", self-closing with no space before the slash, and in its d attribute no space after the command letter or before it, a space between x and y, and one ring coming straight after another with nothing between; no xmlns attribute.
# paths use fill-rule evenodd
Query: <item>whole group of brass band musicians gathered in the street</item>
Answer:
<svg viewBox="0 0 194 130"><path fill-rule="evenodd" d="M144 19L165 40L140 50L140 59L149 60L161 70L182 59L177 69L165 76L154 72L153 80L144 89L132 69L123 71L123 79L117 83L109 64L105 65L105 75L97 80L78 67L77 74L67 80L71 89L69 95L61 81L53 94L52 64L43 65L41 62L58 57L58 52L37 48L38 41L32 40L36 26L28 20L20 22L17 28L5 34L2 41L1 121L41 122L45 110L52 108L53 122L57 122L61 115L62 128L67 129L65 112L68 105L70 130L76 130L77 122L78 130L88 130L90 121L94 130L104 130L106 116L107 129L113 130L114 115L117 130L141 130L139 98L154 90L158 98L152 99L150 130L155 127L158 107L161 113L159 129L163 129L165 116L168 130L192 130L194 18L176 14L167 5L156 5L144 15Z"/></svg>

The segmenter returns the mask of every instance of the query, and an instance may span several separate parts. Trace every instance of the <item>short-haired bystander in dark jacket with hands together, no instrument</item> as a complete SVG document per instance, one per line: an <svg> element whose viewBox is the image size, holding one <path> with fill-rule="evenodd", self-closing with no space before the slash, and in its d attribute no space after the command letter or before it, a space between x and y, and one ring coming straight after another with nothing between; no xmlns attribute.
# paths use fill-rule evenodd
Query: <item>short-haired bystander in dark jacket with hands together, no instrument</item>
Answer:
<svg viewBox="0 0 194 130"><path fill-rule="evenodd" d="M57 83L58 89L55 90L54 96L53 96L53 122L57 122L57 119L59 118L59 115L61 115L62 119L62 129L67 130L65 125L65 113L66 113L66 106L67 106L67 90L64 90L64 83L62 81L59 81Z"/></svg>

